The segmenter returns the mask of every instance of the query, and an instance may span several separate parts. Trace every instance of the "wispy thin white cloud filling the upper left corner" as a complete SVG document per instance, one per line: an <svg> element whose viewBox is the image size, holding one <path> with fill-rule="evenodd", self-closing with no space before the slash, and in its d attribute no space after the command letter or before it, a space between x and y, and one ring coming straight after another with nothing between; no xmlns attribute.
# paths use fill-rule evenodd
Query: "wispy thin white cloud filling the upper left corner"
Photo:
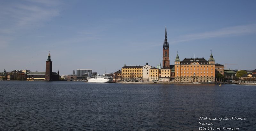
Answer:
<svg viewBox="0 0 256 131"><path fill-rule="evenodd" d="M58 1L16 1L0 5L0 46L7 47L15 34L37 28L60 14Z"/></svg>

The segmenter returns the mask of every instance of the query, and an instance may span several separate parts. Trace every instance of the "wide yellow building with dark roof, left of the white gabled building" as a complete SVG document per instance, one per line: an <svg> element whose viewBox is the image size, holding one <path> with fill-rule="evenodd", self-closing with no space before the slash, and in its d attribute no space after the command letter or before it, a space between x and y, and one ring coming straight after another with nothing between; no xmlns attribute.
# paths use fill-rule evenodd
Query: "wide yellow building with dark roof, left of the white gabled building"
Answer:
<svg viewBox="0 0 256 131"><path fill-rule="evenodd" d="M122 80L132 80L132 81L140 81L142 80L142 67L143 66L127 66L124 64L124 67L122 67Z"/></svg>

